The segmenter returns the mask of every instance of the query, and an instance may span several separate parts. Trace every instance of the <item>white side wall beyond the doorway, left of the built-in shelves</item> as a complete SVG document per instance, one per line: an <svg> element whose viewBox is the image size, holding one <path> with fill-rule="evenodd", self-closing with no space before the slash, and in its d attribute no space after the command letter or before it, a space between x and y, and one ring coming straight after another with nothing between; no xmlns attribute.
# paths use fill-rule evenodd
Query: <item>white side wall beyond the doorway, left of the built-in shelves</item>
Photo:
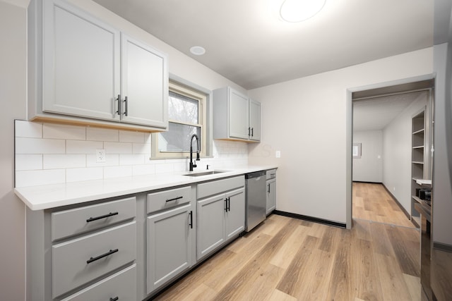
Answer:
<svg viewBox="0 0 452 301"><path fill-rule="evenodd" d="M425 108L427 92L383 129L383 184L411 214L412 117Z"/></svg>

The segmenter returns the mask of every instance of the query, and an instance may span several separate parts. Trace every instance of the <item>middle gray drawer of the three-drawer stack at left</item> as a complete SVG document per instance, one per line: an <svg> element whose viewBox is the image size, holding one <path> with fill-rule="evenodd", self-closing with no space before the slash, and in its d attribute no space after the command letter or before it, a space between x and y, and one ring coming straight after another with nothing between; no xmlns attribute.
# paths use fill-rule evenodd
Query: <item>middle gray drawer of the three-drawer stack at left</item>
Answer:
<svg viewBox="0 0 452 301"><path fill-rule="evenodd" d="M57 297L136 259L136 222L52 247L52 295Z"/></svg>

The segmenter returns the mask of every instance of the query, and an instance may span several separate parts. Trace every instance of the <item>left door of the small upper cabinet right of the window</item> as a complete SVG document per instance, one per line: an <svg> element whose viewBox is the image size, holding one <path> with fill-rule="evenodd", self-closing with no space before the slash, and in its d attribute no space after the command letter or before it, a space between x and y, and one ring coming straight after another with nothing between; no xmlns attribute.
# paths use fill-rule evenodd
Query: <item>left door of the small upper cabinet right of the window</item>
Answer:
<svg viewBox="0 0 452 301"><path fill-rule="evenodd" d="M249 104L248 98L232 89L230 95L229 129L230 137L248 140Z"/></svg>

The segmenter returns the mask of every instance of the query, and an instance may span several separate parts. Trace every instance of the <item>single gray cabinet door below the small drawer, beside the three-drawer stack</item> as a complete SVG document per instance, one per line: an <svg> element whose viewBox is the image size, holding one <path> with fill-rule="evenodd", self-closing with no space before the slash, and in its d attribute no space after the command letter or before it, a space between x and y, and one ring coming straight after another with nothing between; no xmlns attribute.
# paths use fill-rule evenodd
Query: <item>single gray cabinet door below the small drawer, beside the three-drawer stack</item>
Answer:
<svg viewBox="0 0 452 301"><path fill-rule="evenodd" d="M191 266L191 205L148 216L148 293Z"/></svg>

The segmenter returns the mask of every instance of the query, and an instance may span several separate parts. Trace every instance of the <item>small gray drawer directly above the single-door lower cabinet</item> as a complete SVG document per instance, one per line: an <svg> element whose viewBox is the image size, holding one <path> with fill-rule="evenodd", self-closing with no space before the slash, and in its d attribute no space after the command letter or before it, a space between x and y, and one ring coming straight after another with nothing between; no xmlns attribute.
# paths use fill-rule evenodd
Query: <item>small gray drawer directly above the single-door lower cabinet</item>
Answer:
<svg viewBox="0 0 452 301"><path fill-rule="evenodd" d="M190 202L190 187L148 194L148 213Z"/></svg>

